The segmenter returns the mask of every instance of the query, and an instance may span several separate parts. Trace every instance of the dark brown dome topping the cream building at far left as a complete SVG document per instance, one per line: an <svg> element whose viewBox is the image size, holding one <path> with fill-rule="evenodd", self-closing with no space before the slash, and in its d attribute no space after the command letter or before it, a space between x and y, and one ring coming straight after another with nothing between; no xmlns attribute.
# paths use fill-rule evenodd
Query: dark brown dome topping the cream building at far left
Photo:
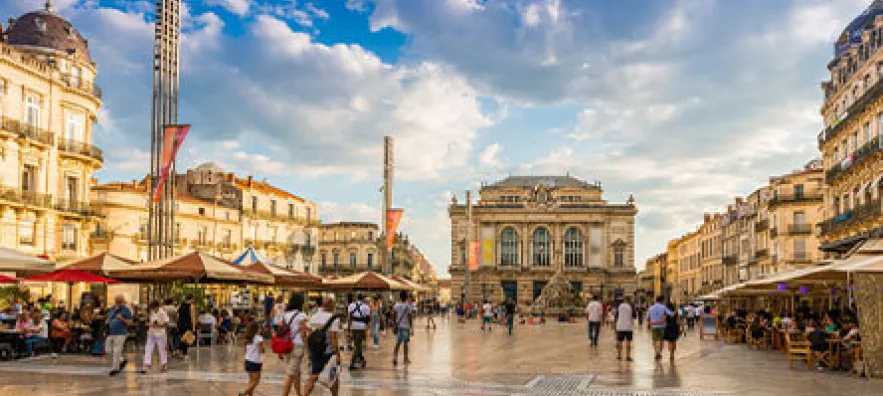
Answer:
<svg viewBox="0 0 883 396"><path fill-rule="evenodd" d="M46 8L29 12L16 19L6 31L9 45L49 49L91 62L89 44L66 19L52 11L52 3Z"/></svg>

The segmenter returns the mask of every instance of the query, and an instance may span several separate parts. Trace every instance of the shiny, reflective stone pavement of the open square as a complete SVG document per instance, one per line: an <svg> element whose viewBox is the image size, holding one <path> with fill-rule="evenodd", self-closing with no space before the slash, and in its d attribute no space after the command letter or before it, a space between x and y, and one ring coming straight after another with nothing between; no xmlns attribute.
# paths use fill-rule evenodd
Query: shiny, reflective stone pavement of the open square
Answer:
<svg viewBox="0 0 883 396"><path fill-rule="evenodd" d="M368 368L342 376L341 395L881 395L883 382L816 372L785 355L749 350L691 333L676 359L653 361L649 332L637 331L634 362L616 360L613 332L588 346L585 323L478 330L475 321L438 320L437 330L412 337L412 364L392 365L392 335L366 352ZM421 323L422 324L422 321ZM7 395L236 395L246 383L243 347L201 348L191 361L172 360L167 373L139 375L140 352L130 352L124 375L107 377L105 358L63 355L0 363L0 396ZM135 364L135 362L139 362ZM264 355L255 394L279 395L284 364ZM319 387L321 388L321 387ZM292 393L293 394L293 393ZM330 394L324 389L314 395Z"/></svg>

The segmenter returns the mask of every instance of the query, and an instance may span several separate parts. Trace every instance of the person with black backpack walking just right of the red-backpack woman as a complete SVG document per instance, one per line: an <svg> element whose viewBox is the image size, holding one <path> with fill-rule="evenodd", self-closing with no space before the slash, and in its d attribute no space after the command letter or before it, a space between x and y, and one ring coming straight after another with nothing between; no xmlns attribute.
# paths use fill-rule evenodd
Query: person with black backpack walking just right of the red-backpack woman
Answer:
<svg viewBox="0 0 883 396"><path fill-rule="evenodd" d="M325 365L331 363L331 359L337 359L336 363L340 364L340 344L338 340L340 339L341 326L339 318L339 315L334 315L334 299L331 297L326 297L322 300L322 307L310 317L307 326L311 329L309 335L311 371L310 377L304 386L304 395L310 395L313 392L313 387L316 386L316 381L319 380L319 374L322 373ZM314 351L312 348L313 339L321 335L323 330L325 332L323 335L325 342L321 346L324 346L324 349L321 352ZM328 385L328 390L332 396L337 396L340 390L339 375L334 376L333 382Z"/></svg>

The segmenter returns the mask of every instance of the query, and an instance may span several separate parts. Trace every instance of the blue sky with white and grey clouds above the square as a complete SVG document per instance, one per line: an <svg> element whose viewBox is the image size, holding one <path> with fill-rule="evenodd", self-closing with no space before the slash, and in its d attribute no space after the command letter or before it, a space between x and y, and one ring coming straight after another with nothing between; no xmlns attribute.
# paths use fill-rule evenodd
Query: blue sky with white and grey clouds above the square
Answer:
<svg viewBox="0 0 883 396"><path fill-rule="evenodd" d="M2 0L0 20L44 0ZM870 0L186 0L179 167L400 226L442 277L451 194L570 173L638 205L636 266L818 156L832 43ZM54 0L89 39L100 181L147 173L153 2Z"/></svg>

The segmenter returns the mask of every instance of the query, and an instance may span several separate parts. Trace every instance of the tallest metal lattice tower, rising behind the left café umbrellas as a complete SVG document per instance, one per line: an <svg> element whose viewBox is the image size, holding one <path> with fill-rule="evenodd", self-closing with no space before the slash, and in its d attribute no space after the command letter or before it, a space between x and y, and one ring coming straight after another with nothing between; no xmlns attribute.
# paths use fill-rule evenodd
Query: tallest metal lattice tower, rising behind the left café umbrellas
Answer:
<svg viewBox="0 0 883 396"><path fill-rule="evenodd" d="M148 194L148 259L157 260L175 252L174 157L163 164L165 129L178 123L178 71L181 43L180 0L156 0L153 39L153 112L150 120L150 186ZM179 144L179 143L178 143ZM166 148L165 150L168 150ZM164 168L166 178L161 177ZM161 186L165 183L165 186ZM160 188L156 199L154 192Z"/></svg>

